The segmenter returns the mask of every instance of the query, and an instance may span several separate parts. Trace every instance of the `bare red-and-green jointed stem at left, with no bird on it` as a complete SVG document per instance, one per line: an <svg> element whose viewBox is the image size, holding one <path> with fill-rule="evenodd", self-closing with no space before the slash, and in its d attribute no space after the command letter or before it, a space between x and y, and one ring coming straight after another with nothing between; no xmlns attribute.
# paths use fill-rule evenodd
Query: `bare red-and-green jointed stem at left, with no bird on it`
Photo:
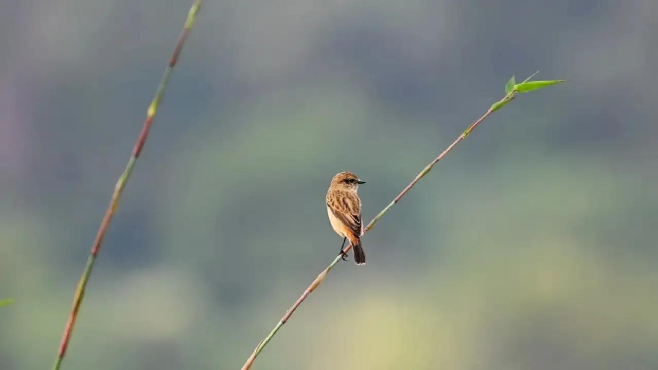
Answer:
<svg viewBox="0 0 658 370"><path fill-rule="evenodd" d="M126 164L126 168L124 169L124 172L121 173L120 177L116 181L116 185L114 185L114 192L112 194L110 204L107 207L107 211L105 211L105 216L103 217L103 221L101 221L101 226L99 227L98 232L96 233L96 238L94 239L93 244L91 245L91 253L89 254L87 264L85 266L84 272L82 273L82 277L80 277L80 281L78 282L78 287L73 297L73 304L70 313L68 314L68 321L66 321L66 326L64 327L64 333L62 335L62 340L59 344L57 357L55 358L55 361L53 363L53 367L52 367L53 370L59 370L59 368L62 365L62 361L64 359L64 356L66 355L66 348L68 348L68 343L70 342L71 335L73 333L73 327L76 323L76 318L78 317L80 306L82 305L82 299L84 298L87 283L89 281L89 275L91 275L91 269L93 268L93 264L96 260L96 256L98 256L98 253L101 250L101 245L103 244L103 238L105 237L107 227L109 226L110 221L112 220L114 213L118 208L119 199L121 198L123 190L126 187L126 182L128 181L128 177L130 177L130 173L132 173L132 170L135 166L135 162L137 161L137 158L139 158L139 154L141 154L141 150L144 147L146 138L149 135L149 130L151 129L151 124L153 123L153 118L155 118L155 113L157 112L158 105L163 97L164 90L166 89L169 76L171 75L174 66L176 66L176 62L178 61L178 57L180 56L180 52L183 49L183 45L185 44L185 41L188 38L188 35L190 34L191 28L194 26L194 22L196 20L197 14L199 13L199 7L201 6L201 3L202 0L196 0L193 3L192 7L190 8L190 12L188 13L188 18L185 22L183 32L182 34L180 34L180 37L178 37L178 42L176 43L176 49L174 49L174 53L172 54L172 57L169 60L169 64L166 70L164 71L164 75L162 80L160 81L160 85L158 87L157 93L155 93L155 97L153 98L153 101L149 105L149 109L146 115L146 120L144 121L144 124L141 127L141 132L139 133L139 137L137 139L137 142L135 143L135 147L132 149L132 155L130 156L130 159L128 159L128 164Z"/></svg>

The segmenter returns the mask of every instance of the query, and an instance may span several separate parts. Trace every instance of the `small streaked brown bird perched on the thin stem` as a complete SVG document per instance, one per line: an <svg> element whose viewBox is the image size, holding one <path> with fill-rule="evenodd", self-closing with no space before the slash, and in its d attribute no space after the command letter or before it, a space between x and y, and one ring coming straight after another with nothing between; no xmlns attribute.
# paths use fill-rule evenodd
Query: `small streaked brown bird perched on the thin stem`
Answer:
<svg viewBox="0 0 658 370"><path fill-rule="evenodd" d="M332 179L326 196L329 221L334 231L343 237L340 254L345 260L343 245L345 239L349 239L357 265L366 263L366 255L361 247L361 199L357 195L361 184L365 184L365 181L361 181L354 173L340 172Z"/></svg>

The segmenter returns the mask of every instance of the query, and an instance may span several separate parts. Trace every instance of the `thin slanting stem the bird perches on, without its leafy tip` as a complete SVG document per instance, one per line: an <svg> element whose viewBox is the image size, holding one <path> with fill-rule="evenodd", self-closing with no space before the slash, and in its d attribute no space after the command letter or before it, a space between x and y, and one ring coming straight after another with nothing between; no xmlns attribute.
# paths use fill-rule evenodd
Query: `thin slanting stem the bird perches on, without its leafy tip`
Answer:
<svg viewBox="0 0 658 370"><path fill-rule="evenodd" d="M515 93L516 93L516 91L510 91L507 95L505 95L505 97L503 97L503 99L501 99L501 102L502 101L505 101L505 102L510 101L511 99L514 98ZM497 110L497 109L495 109L493 106L492 106L492 108L489 108L482 115L482 117L478 118L478 120L476 120L475 122L470 124L470 126L468 126L468 128L463 133L461 133L461 135L459 135L459 137L457 137L457 139L455 139L455 141L453 141L453 143L451 145L449 145L447 148L445 148L445 150L443 150L443 152L441 152L441 154L439 154L436 158L434 158L434 160L432 160L432 162L430 162L430 164L425 166L425 168L423 168L423 170L420 171L420 173L418 173L418 175L416 175L415 179L413 179L413 181L411 181L411 183L409 183L409 185L407 185L407 187L405 187L405 189L403 189L397 195L397 197L393 198L393 200L386 207L384 207L384 209L381 210L377 214L377 216L374 216L372 221L370 221L370 223L368 223L368 225L366 225L366 227L363 228L363 232L361 233L361 236L365 235L365 233L372 230L372 227L374 227L374 224L377 223L377 221L379 221L380 218L382 218L382 216L384 216L384 214L386 214L386 212L388 212L388 210L390 210L393 207L394 204L399 202L400 199L402 197L404 197L409 192L409 190L411 190L411 188L414 185L416 185L416 183L418 183L418 181L420 181L420 179L422 179L425 175L427 175L428 172L430 172L430 170L432 170L432 168L434 167L435 164L437 164L440 160L442 160L443 157L446 154L448 154L450 152L450 150L452 150L455 146L457 146L457 144L459 144L460 141L462 141L463 139L466 139L468 134L471 131L473 131L475 129L475 127L478 127L478 125L482 121L484 121L485 118L487 118L490 114L495 112L495 110ZM352 244L349 244L343 250L345 252L348 252L351 248L352 248ZM272 340L272 337L276 334L276 332L278 332L279 329L281 329L281 327L286 323L286 321L288 321L288 319L290 319L290 316L295 312L295 310L297 310L297 308L299 307L301 302L303 302L306 299L306 297L309 296L309 294L311 294L313 292L313 290L315 290L322 283L322 281L324 281L324 278L329 273L329 271L331 271L331 269L334 268L334 266L336 266L336 264L338 264L338 262L340 260L341 260L341 254L338 254L338 257L336 257L334 259L334 261L331 264L329 264L329 266L327 266L326 269L324 269L324 271L322 271L320 273L320 275L318 275L318 277L315 278L313 283L311 283L311 285L309 285L309 287L307 287L307 289L304 290L304 292L301 294L301 296L299 296L299 298L297 298L297 301L290 307L290 309L288 309L288 311L286 311L286 314L280 319L280 321L276 324L274 329L272 329L272 331L270 331L270 333L265 337L265 339L261 340L261 342L255 348L255 350L253 350L253 352L251 353L251 356L249 356L249 359L247 359L247 362L245 362L245 364L242 366L242 370L249 370L251 368L251 365L253 364L253 361L261 353L261 351L263 351L263 348L265 348L265 346L268 344L268 342L270 342L270 340Z"/></svg>

